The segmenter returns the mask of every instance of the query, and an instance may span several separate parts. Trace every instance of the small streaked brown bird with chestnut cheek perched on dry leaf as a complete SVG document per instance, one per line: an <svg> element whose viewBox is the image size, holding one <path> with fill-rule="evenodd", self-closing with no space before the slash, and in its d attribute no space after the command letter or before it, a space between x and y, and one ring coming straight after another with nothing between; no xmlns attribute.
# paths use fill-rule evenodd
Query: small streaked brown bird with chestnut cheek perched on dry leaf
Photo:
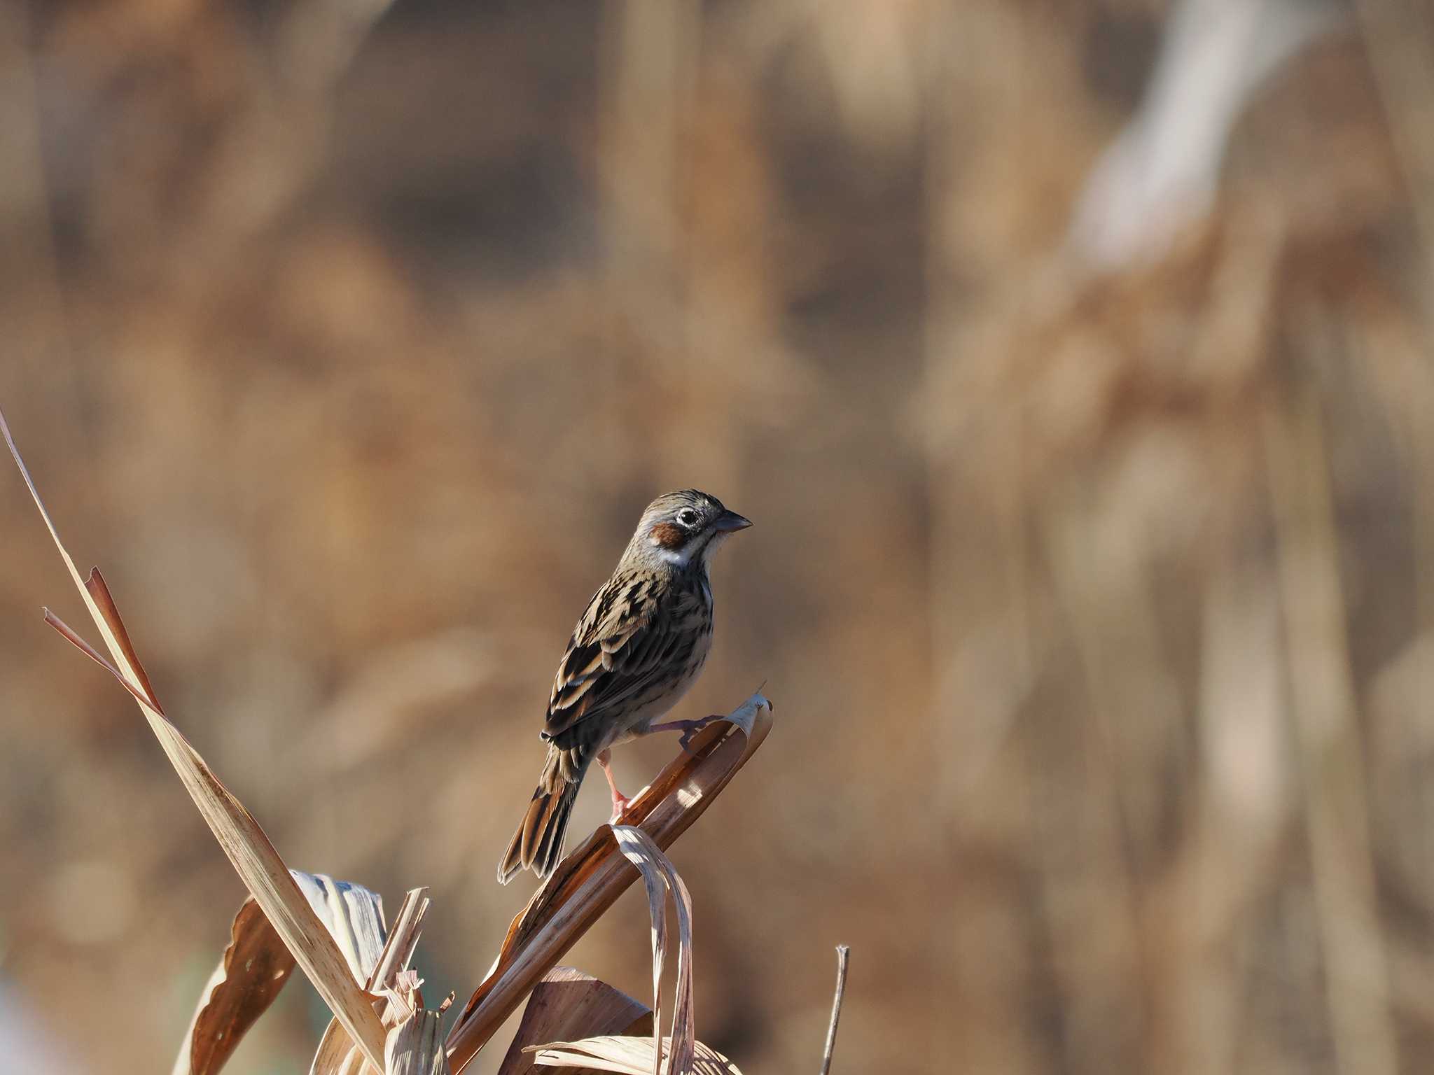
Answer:
<svg viewBox="0 0 1434 1075"><path fill-rule="evenodd" d="M617 570L592 595L568 639L543 720L548 742L538 790L498 864L506 884L531 867L539 877L562 857L564 836L588 765L602 765L612 817L628 800L612 781L614 744L654 731L687 737L708 720L654 724L687 694L713 641L707 562L727 535L751 526L717 497L684 489L642 512Z"/></svg>

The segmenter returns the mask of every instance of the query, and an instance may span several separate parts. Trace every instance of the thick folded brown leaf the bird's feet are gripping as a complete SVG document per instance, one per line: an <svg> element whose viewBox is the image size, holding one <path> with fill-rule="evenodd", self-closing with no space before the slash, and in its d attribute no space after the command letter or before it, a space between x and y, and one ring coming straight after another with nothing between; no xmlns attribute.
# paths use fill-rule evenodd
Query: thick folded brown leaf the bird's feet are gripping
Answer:
<svg viewBox="0 0 1434 1075"><path fill-rule="evenodd" d="M771 702L754 694L693 740L627 811L658 847L701 816L771 731ZM602 826L564 859L513 919L488 976L449 1032L449 1062L462 1071L545 973L632 883L617 840Z"/></svg>

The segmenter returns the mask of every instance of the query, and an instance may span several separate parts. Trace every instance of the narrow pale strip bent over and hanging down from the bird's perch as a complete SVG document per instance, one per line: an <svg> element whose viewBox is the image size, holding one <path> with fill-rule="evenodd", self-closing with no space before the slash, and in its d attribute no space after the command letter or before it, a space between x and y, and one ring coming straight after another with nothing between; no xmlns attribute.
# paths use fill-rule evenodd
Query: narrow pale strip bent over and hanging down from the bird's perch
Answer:
<svg viewBox="0 0 1434 1075"><path fill-rule="evenodd" d="M647 883L648 912L652 916L652 1048L650 1051L652 1069L658 1075L661 1058L657 1041L661 1035L660 989L663 965L667 959L667 897L673 893L677 912L677 985L674 986L671 1041L677 1042L675 1054L668 1062L670 1075L687 1075L695 1055L697 1023L693 1009L693 897L678 877L671 860L652 843L652 837L632 826L612 826L622 856L637 866ZM664 892L665 889L665 892Z"/></svg>

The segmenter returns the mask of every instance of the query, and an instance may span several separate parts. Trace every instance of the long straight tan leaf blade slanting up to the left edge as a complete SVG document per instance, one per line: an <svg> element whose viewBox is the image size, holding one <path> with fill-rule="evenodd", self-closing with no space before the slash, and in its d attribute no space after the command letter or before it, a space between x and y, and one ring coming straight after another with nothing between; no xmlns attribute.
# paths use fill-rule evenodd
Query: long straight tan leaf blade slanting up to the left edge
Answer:
<svg viewBox="0 0 1434 1075"><path fill-rule="evenodd" d="M96 586L96 592L105 599L105 606L102 608L95 593L90 592L90 588L85 585L85 579L80 578L75 560L60 540L54 520L50 517L49 510L46 510L44 500L40 499L40 490L30 477L30 472L20 457L20 450L10 436L10 427L4 420L3 411L0 411L0 436L4 437L6 444L10 447L10 454L14 457L16 466L20 469L20 476L24 479L26 487L29 487L30 496L34 500L34 506L39 509L40 517L50 532L54 548L59 550L60 559L65 560L65 566L70 572L70 579L75 582L75 588L89 609L90 619L95 621L95 626L105 639L105 648L109 651L120 681L139 702L141 712L149 721L151 730L159 740L159 745L174 765L175 773L179 774L179 780L184 783L189 797L199 808L199 814L209 826L209 830L219 841L219 847L224 849L224 853L245 886L254 894L255 900L258 900L260 907L264 909L264 914L272 923L284 945L294 953L298 965L314 983L318 995L324 998L324 1002L344 1025L346 1032L354 1038L373 1064L376 1066L380 1065L383 1062L384 1043L383 1026L358 983L348 973L344 956L338 952L333 937L320 923L308 902L294 884L294 880L288 876L288 869L264 834L264 830L260 828L258 823L238 798L229 794L229 790L219 783L198 751L179 734L179 730L165 718L159 711L158 701L146 692L145 677L129 656L128 632L123 631L119 612L115 609L113 602L109 601L109 591L102 585ZM119 635L125 636L126 641L123 644L119 641L116 626L112 626L112 624L118 626Z"/></svg>

